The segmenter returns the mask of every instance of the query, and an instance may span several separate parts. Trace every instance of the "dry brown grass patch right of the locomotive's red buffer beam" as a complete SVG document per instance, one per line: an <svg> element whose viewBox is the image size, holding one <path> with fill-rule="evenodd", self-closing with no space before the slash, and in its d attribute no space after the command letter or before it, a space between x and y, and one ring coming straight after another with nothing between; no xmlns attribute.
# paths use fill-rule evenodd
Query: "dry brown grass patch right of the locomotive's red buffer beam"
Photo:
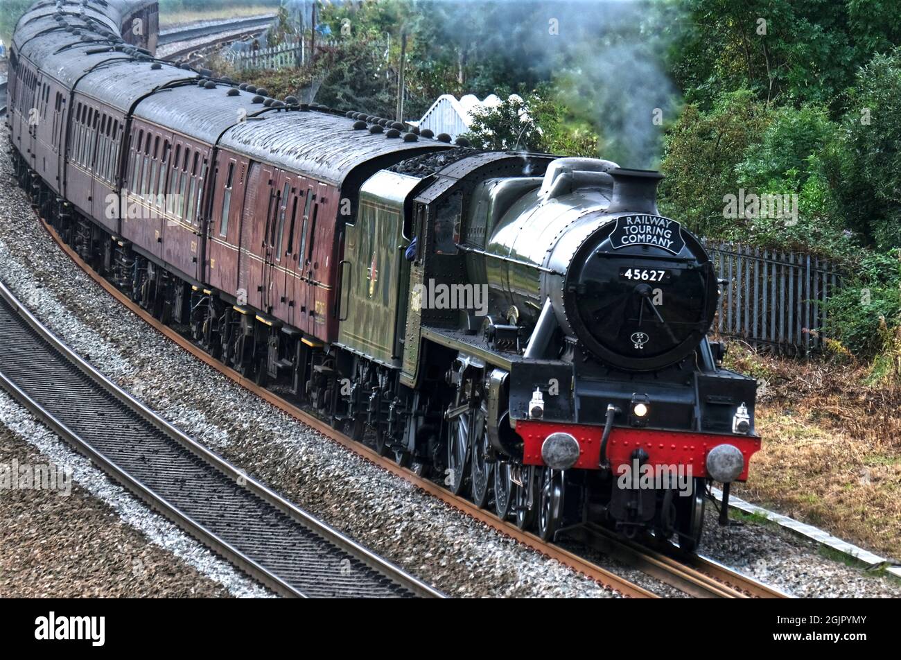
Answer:
<svg viewBox="0 0 901 660"><path fill-rule="evenodd" d="M901 387L839 355L800 362L733 344L736 371L761 383L743 498L884 555L901 555ZM885 381L883 381L885 382Z"/></svg>

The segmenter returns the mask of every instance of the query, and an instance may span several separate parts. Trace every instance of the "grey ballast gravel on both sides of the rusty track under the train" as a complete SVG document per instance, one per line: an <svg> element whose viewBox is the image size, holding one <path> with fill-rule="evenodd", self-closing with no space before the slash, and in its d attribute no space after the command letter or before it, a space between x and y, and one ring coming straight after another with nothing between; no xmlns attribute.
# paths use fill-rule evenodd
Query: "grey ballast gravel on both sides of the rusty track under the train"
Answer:
<svg viewBox="0 0 901 660"><path fill-rule="evenodd" d="M5 142L4 134L0 151ZM0 254L5 254L0 279L77 353L170 423L453 596L614 595L415 490L168 342L59 251L14 187L8 160L0 179L0 216L6 218L0 225ZM713 518L708 517L705 552L785 591L848 597L896 593L893 584L821 557L779 530L747 525L724 532ZM646 578L642 585L673 595Z"/></svg>

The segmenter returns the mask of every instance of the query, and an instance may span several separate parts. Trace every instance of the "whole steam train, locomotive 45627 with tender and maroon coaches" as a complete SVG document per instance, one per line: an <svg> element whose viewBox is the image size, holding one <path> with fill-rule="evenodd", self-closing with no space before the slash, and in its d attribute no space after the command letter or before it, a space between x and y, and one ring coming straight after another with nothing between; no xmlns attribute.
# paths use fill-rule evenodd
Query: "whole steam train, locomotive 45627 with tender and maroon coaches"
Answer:
<svg viewBox="0 0 901 660"><path fill-rule="evenodd" d="M15 31L15 170L64 240L501 518L696 547L707 485L760 448L756 383L706 338L719 283L659 173L275 99L124 42L136 6L44 0Z"/></svg>

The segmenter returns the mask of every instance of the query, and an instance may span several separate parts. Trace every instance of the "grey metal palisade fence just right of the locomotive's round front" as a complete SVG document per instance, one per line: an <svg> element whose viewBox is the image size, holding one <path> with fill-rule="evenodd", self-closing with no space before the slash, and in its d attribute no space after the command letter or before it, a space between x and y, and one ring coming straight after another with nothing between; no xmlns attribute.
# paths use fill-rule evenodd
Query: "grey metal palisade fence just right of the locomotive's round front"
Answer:
<svg viewBox="0 0 901 660"><path fill-rule="evenodd" d="M827 298L841 285L831 261L798 252L706 242L723 298L714 322L719 335L778 353L805 355L823 347Z"/></svg>

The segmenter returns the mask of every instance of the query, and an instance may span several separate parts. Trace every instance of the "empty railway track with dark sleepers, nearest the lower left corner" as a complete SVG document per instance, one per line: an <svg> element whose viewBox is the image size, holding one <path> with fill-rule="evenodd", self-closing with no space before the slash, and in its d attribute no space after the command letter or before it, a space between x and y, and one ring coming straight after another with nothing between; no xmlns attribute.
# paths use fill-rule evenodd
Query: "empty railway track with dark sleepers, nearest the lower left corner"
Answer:
<svg viewBox="0 0 901 660"><path fill-rule="evenodd" d="M284 596L442 597L168 425L2 283L0 387L115 481Z"/></svg>

